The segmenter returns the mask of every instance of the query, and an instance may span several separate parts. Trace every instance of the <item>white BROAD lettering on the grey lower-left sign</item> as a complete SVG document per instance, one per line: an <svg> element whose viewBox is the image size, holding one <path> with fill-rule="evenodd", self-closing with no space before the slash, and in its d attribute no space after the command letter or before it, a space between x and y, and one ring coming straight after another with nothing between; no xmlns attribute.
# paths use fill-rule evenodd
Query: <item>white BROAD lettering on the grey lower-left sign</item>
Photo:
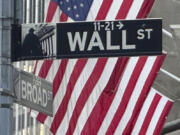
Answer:
<svg viewBox="0 0 180 135"><path fill-rule="evenodd" d="M50 93L44 88L38 85L31 84L21 80L22 94L21 98L33 102L34 104L41 105L43 107L47 106L48 100L50 99Z"/></svg>

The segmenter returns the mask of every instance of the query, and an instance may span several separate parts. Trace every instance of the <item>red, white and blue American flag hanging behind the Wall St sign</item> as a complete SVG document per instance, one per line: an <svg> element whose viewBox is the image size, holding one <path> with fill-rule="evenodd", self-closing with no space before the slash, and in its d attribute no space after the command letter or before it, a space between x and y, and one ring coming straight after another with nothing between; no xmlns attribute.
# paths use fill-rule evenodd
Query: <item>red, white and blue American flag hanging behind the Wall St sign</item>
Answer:
<svg viewBox="0 0 180 135"><path fill-rule="evenodd" d="M51 0L46 21L144 18L153 3ZM151 88L164 58L165 54L38 61L35 74L53 82L54 116L35 116L57 135L158 135L172 106L169 98Z"/></svg>

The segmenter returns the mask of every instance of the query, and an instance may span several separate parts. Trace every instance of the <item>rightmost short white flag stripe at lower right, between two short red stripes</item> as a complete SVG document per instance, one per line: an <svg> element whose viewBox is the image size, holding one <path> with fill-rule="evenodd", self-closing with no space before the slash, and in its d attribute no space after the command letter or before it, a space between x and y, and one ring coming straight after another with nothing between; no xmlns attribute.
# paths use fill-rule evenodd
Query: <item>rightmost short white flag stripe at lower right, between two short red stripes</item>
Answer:
<svg viewBox="0 0 180 135"><path fill-rule="evenodd" d="M153 90L153 89L151 89L151 90ZM162 96L162 98L160 99L160 102L159 102L158 106L156 107L156 110L155 110L155 112L153 114L153 117L151 118L151 122L150 122L150 124L148 126L148 129L147 129L147 132L146 132L147 135L153 135L153 132L154 132L154 130L156 128L158 120L159 120L159 118L160 118L160 116L161 116L161 114L163 112L163 109L166 106L166 103L168 102L168 100L169 99L166 98L165 96Z"/></svg>

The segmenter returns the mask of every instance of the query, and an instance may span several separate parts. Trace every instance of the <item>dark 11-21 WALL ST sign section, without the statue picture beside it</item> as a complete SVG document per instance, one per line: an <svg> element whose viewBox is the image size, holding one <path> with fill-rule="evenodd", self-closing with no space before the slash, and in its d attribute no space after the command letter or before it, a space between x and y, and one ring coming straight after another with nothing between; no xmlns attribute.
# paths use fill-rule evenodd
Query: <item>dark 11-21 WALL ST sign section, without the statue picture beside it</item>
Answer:
<svg viewBox="0 0 180 135"><path fill-rule="evenodd" d="M159 55L162 20L57 24L57 58Z"/></svg>

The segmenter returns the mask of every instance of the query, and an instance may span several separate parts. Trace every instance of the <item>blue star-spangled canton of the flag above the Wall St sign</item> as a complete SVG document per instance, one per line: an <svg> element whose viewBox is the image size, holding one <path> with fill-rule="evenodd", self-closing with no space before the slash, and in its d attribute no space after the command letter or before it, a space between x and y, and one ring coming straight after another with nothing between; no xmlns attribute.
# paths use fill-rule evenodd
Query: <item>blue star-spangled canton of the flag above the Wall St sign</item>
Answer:
<svg viewBox="0 0 180 135"><path fill-rule="evenodd" d="M59 1L60 9L75 21L84 21L93 0L54 0Z"/></svg>

